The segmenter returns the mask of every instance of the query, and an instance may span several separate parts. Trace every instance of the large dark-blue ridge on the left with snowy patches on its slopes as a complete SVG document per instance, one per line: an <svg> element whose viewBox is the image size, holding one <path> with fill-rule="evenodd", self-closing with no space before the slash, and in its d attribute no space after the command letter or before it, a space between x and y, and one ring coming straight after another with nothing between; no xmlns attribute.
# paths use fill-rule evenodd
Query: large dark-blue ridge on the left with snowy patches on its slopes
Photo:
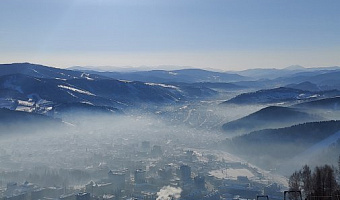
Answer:
<svg viewBox="0 0 340 200"><path fill-rule="evenodd" d="M0 107L28 112L53 113L51 110L71 105L78 109L93 110L98 106L97 110L103 110L103 107L117 110L139 104L176 103L216 94L215 90L203 84L122 81L30 63L0 65Z"/></svg>

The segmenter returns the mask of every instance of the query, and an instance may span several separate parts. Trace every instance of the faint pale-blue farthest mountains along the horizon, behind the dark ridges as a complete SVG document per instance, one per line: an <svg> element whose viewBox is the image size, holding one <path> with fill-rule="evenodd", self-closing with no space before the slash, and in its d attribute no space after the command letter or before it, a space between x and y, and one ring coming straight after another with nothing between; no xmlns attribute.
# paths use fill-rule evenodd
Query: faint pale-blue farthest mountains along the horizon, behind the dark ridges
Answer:
<svg viewBox="0 0 340 200"><path fill-rule="evenodd" d="M202 69L148 70L148 71L96 71L88 68L73 67L73 70L87 74L110 77L118 80L130 80L154 83L233 83L239 87L270 89L274 87L292 87L302 90L340 89L340 67L304 68L294 65L284 69L249 69L244 71L216 72ZM299 85L305 82L305 85ZM309 82L310 86L306 85Z"/></svg>

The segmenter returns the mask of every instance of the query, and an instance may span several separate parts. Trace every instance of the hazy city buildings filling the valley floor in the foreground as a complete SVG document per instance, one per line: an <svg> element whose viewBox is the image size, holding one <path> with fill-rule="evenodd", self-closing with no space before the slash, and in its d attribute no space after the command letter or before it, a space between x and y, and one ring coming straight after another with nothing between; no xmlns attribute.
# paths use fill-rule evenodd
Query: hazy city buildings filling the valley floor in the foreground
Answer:
<svg viewBox="0 0 340 200"><path fill-rule="evenodd" d="M132 154L84 169L91 174L87 184L44 187L27 181L21 185L7 183L0 191L0 199L233 200L255 199L257 195L281 197L282 185L266 180L246 163L226 161L212 153L183 148L169 150L144 141L139 151ZM233 173L237 169L247 170L252 176L228 174L228 169Z"/></svg>

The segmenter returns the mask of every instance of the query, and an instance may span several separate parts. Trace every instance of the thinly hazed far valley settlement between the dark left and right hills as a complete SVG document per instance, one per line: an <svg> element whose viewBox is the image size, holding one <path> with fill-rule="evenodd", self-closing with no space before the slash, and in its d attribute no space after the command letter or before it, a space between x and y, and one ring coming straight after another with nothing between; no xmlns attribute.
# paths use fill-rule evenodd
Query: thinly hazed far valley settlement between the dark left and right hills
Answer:
<svg viewBox="0 0 340 200"><path fill-rule="evenodd" d="M146 109L169 125L184 125L190 129L219 132L227 137L222 125L247 116L265 106L263 105L221 105L223 100L192 101L180 105L162 106Z"/></svg>

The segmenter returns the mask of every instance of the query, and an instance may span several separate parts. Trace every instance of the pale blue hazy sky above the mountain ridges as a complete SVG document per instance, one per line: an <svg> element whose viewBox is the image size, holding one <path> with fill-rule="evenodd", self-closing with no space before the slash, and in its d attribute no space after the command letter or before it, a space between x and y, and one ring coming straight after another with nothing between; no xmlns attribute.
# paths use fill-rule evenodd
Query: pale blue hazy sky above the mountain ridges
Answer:
<svg viewBox="0 0 340 200"><path fill-rule="evenodd" d="M340 65L339 0L1 0L0 62Z"/></svg>

